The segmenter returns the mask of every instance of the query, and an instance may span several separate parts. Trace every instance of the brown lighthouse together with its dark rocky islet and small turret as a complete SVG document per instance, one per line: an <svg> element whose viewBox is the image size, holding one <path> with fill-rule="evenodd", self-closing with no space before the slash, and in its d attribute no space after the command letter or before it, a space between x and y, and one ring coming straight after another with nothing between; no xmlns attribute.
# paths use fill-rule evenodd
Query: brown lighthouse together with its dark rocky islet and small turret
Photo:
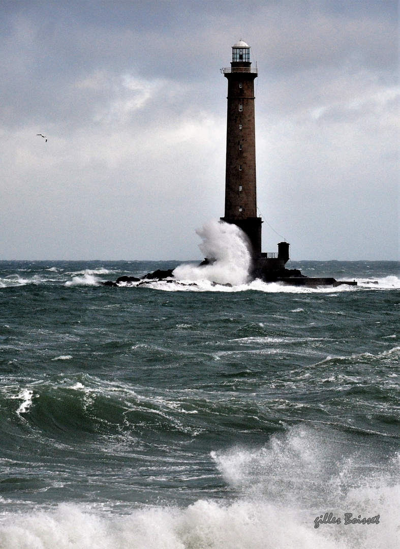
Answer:
<svg viewBox="0 0 400 549"><path fill-rule="evenodd" d="M257 77L257 66L255 68L251 66L249 44L243 40L236 42L232 46L232 63L230 63L230 67L221 69L221 72L228 80L225 215L221 217L221 220L240 227L246 234L251 253L250 278L261 278L264 282L280 282L313 288L320 285L357 285L356 281L337 282L334 278L308 278L297 269L286 269L285 264L289 261L289 242L286 240L278 243L278 253L262 253L262 220L261 217L257 217L254 117L254 80ZM216 257L205 257L199 267L207 267L217 261ZM115 282L103 282L103 285L114 287L119 284L137 282L148 284L151 281L164 279L173 282L173 278L177 276L177 270L161 271L157 269L153 273L147 273L141 279L122 276ZM212 270L208 276L210 274L212 274ZM197 278L195 279L197 280ZM213 284L217 283L213 282ZM196 284L194 283L194 285Z"/></svg>

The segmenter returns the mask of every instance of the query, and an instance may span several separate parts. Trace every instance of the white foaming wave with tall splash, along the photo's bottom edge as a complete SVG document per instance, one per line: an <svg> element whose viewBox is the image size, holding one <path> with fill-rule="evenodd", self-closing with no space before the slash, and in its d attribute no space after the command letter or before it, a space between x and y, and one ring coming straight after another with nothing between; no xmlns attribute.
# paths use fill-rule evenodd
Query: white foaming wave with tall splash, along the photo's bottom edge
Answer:
<svg viewBox="0 0 400 549"><path fill-rule="evenodd" d="M61 504L5 513L5 549L396 549L399 458L379 464L373 451L333 430L293 427L258 449L212 452L236 500L200 499L185 508ZM345 452L343 450L346 449ZM343 457L344 456L344 457ZM371 461L374 466L371 465ZM363 473L363 475L360 475ZM361 480L360 480L361 479ZM325 512L341 524L320 524ZM344 513L379 524L345 525Z"/></svg>

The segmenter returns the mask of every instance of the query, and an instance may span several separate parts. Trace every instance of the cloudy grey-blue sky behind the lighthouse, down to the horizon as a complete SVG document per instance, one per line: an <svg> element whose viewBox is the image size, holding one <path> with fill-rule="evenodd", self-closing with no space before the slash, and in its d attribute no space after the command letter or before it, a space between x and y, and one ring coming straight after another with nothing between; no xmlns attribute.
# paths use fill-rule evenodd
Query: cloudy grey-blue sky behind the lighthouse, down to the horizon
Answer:
<svg viewBox="0 0 400 549"><path fill-rule="evenodd" d="M263 251L399 259L391 0L2 0L0 259L200 258L195 228L224 215L219 69L239 38Z"/></svg>

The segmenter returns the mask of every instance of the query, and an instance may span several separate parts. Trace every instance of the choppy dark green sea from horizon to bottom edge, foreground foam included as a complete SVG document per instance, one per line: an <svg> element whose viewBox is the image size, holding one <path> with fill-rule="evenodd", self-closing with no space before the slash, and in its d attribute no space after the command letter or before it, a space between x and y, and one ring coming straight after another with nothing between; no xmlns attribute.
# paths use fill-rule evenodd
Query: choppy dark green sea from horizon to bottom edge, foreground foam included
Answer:
<svg viewBox="0 0 400 549"><path fill-rule="evenodd" d="M0 547L400 547L399 263L177 265L0 262Z"/></svg>

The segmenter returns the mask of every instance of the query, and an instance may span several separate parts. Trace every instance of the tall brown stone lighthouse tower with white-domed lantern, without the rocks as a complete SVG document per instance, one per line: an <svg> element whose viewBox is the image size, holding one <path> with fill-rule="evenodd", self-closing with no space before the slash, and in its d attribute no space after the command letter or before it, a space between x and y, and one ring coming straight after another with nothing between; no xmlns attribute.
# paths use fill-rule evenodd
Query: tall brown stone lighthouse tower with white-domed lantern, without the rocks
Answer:
<svg viewBox="0 0 400 549"><path fill-rule="evenodd" d="M261 256L261 217L257 217L256 136L254 80L250 46L240 40L232 46L231 66L222 69L228 80L225 215L249 237L253 259Z"/></svg>

